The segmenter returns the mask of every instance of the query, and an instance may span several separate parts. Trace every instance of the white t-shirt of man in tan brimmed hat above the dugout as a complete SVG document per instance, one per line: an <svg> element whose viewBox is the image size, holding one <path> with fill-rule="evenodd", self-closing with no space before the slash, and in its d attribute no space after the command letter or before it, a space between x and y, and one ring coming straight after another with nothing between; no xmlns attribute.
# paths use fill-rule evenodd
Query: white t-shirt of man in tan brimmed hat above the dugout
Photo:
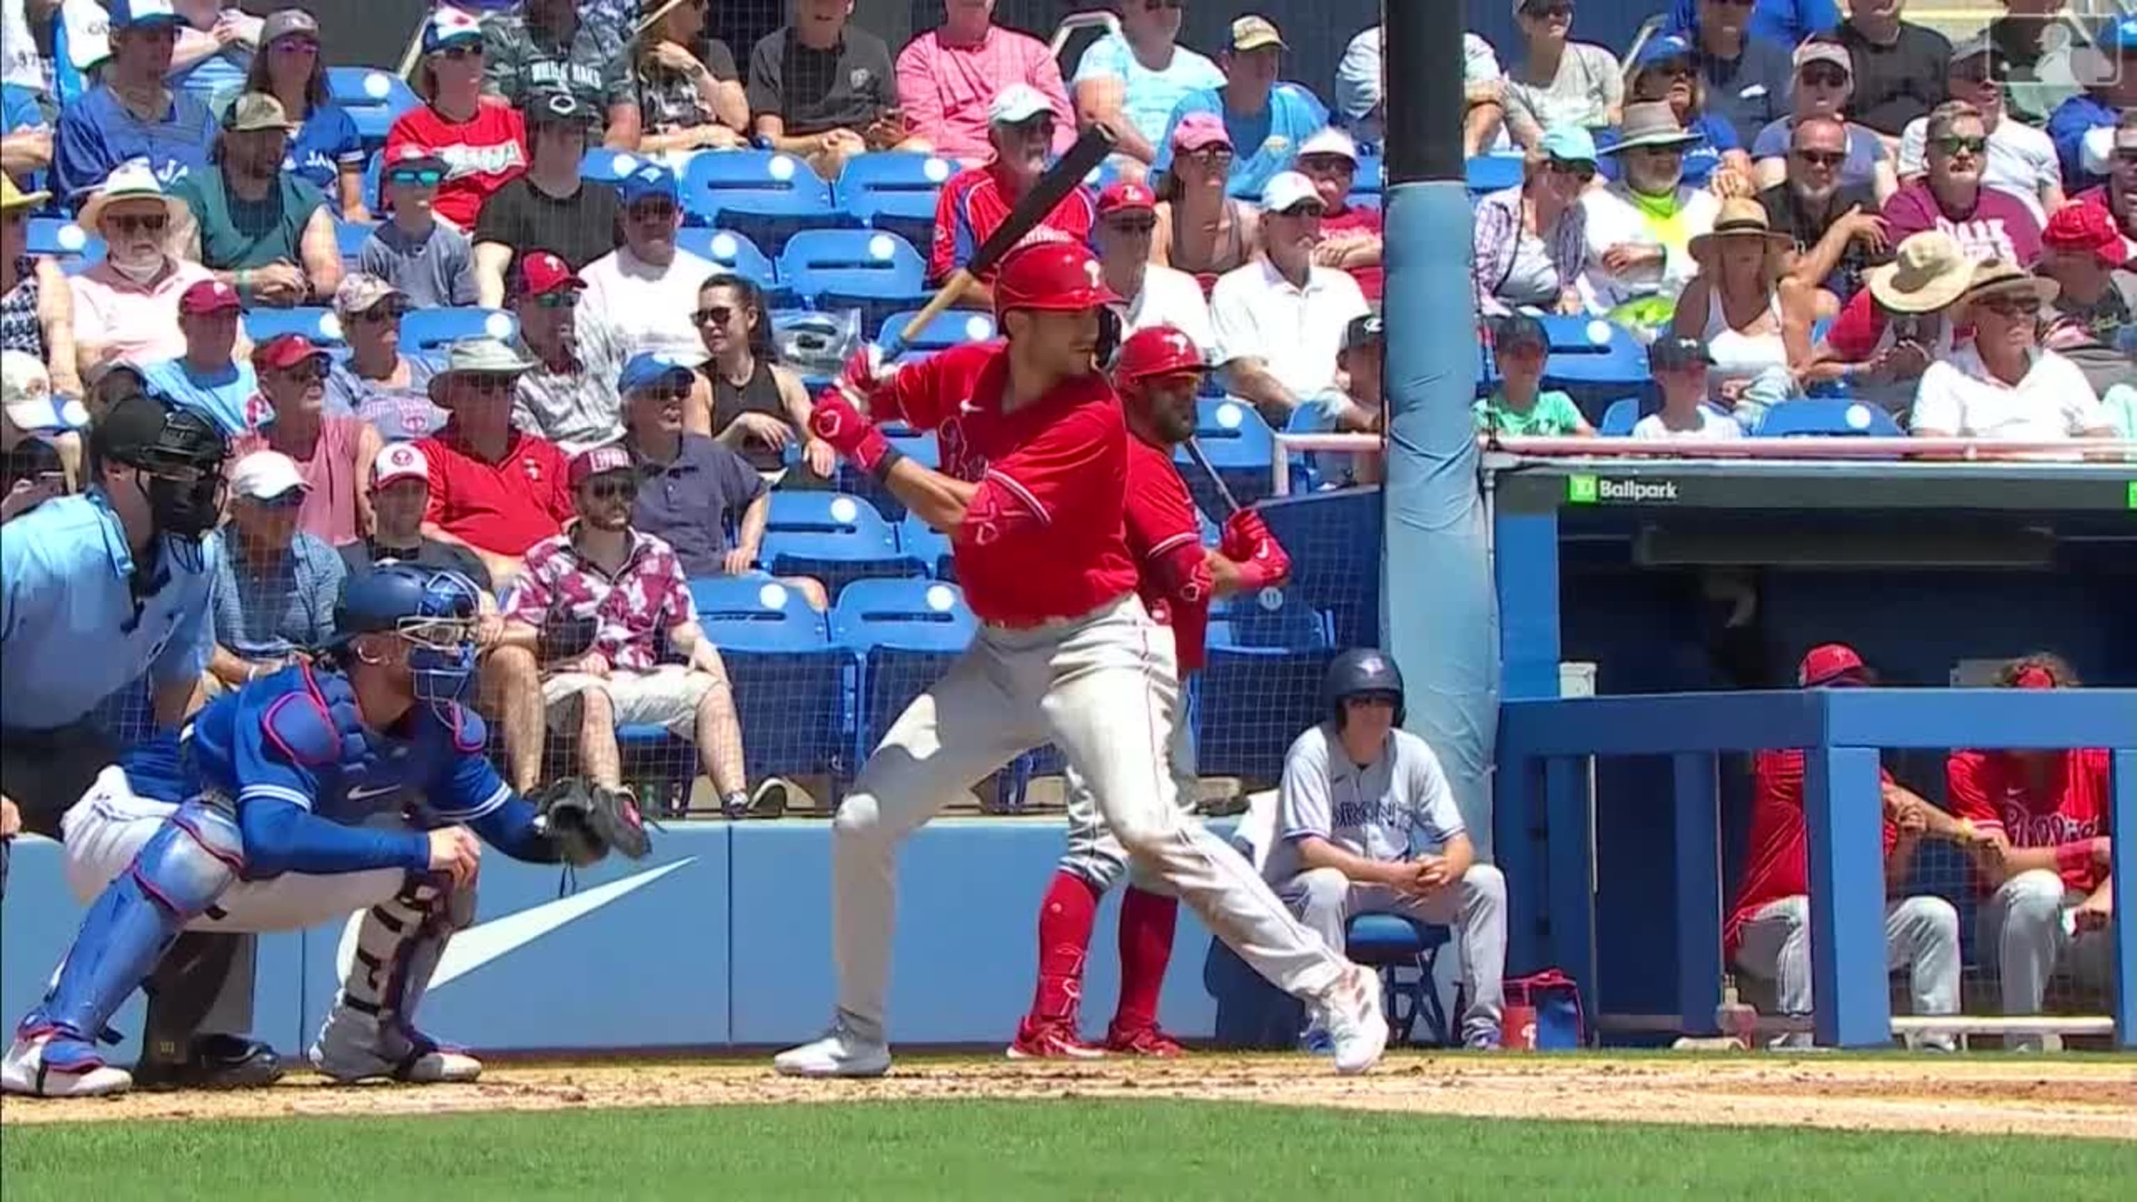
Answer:
<svg viewBox="0 0 2137 1202"><path fill-rule="evenodd" d="M1981 355L1962 346L1930 364L1915 391L1917 434L2054 443L2109 426L2086 372L2054 351L2034 351L2017 387L1990 376Z"/></svg>

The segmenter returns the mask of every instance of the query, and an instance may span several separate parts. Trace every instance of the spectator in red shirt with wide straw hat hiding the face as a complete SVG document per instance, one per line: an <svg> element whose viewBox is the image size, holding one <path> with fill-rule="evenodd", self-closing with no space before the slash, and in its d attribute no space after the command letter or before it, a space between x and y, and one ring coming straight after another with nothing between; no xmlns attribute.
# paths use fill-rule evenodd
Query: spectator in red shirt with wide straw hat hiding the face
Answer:
<svg viewBox="0 0 2137 1202"><path fill-rule="evenodd" d="M1863 274L1863 291L1812 349L1804 383L1846 383L1857 400L1904 417L1921 372L1953 353L1951 306L1972 276L1972 261L1949 233L1925 229L1902 240L1891 263Z"/></svg>

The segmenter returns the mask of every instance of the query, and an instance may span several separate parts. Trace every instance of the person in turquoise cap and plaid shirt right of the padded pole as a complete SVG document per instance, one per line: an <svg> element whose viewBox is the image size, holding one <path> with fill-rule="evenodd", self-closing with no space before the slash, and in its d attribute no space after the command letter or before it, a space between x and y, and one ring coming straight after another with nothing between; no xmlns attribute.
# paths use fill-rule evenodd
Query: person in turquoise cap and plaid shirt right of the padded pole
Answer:
<svg viewBox="0 0 2137 1202"><path fill-rule="evenodd" d="M1588 259L1581 190L1596 178L1596 143L1581 126L1551 126L1522 163L1522 186L1477 201L1470 278L1477 312L1581 312L1575 280Z"/></svg>

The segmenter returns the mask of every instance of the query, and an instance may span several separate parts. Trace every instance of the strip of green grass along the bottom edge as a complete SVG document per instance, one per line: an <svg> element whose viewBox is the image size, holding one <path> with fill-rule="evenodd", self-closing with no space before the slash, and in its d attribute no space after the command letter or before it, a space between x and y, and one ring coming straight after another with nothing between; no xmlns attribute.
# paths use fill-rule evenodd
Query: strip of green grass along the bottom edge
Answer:
<svg viewBox="0 0 2137 1202"><path fill-rule="evenodd" d="M2099 1200L2092 1140L1502 1123L1195 1101L934 1101L9 1127L0 1191L408 1202L568 1198ZM1340 1189L1346 1193L1329 1193ZM1359 1193L1372 1191L1372 1193Z"/></svg>

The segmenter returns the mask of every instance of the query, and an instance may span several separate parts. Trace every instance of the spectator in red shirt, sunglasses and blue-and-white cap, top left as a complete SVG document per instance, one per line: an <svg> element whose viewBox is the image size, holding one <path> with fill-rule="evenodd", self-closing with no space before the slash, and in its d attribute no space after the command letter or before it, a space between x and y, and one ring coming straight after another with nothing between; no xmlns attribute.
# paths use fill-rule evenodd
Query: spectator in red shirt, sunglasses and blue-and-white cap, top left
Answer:
<svg viewBox="0 0 2137 1202"><path fill-rule="evenodd" d="M444 160L436 212L462 231L474 229L483 201L528 169L528 133L519 111L483 96L483 26L459 9L436 9L423 24L423 58L415 94L423 105L402 113L387 133L387 163L419 154Z"/></svg>

